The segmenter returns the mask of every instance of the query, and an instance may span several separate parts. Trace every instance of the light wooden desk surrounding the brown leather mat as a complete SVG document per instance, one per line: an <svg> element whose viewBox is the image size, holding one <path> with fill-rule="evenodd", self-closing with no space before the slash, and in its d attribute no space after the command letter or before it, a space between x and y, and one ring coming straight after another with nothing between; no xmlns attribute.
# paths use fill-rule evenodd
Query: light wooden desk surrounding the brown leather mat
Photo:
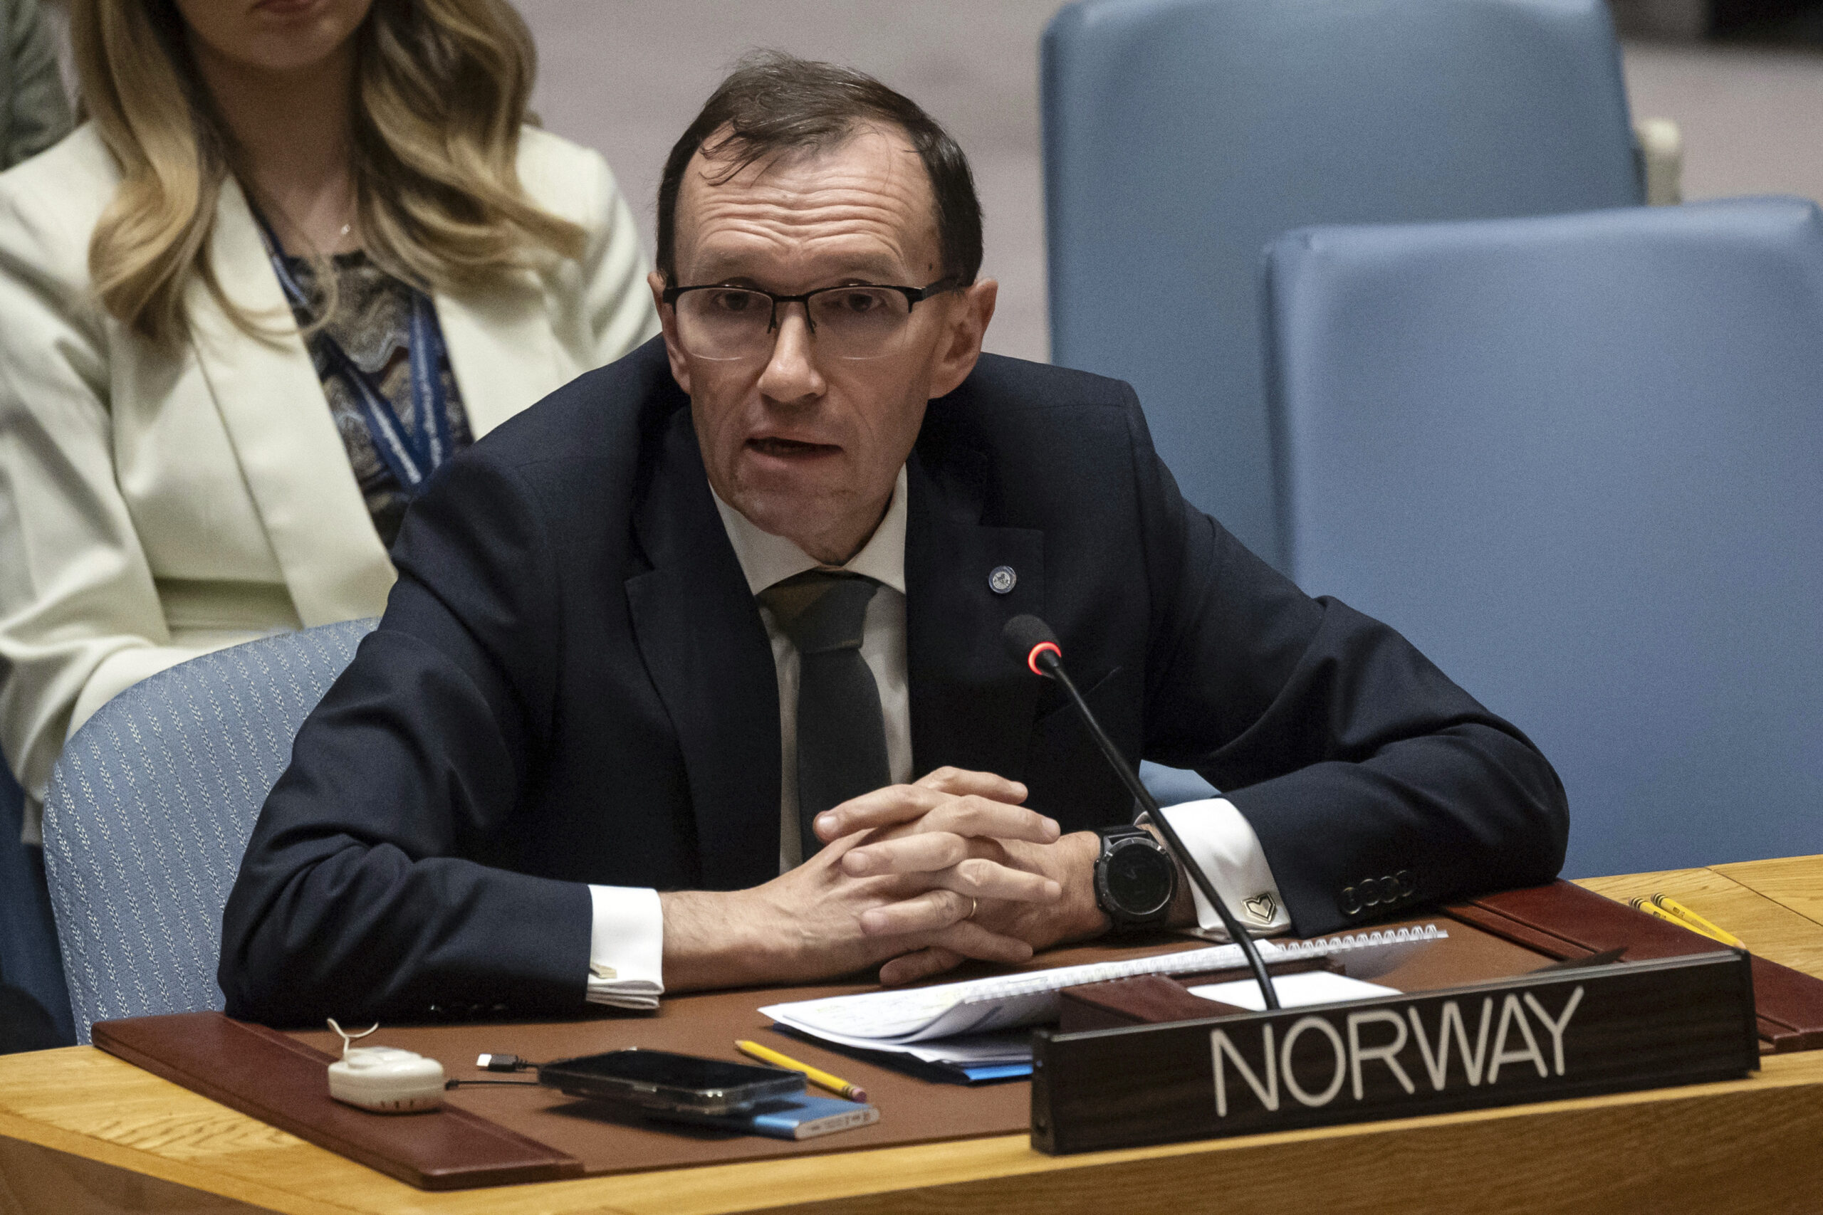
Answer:
<svg viewBox="0 0 1823 1215"><path fill-rule="evenodd" d="M1668 893L1823 976L1823 856L1582 885ZM295 1215L733 1211L1808 1211L1823 1051L1748 1080L1043 1157L1023 1135L543 1186L425 1193L91 1047L0 1057L0 1211Z"/></svg>

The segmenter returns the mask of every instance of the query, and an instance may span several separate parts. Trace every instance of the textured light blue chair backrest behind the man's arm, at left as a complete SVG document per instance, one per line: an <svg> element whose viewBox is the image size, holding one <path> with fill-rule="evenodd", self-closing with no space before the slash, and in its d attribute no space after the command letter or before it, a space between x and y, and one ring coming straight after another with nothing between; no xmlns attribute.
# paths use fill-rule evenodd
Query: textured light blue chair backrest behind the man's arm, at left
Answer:
<svg viewBox="0 0 1823 1215"><path fill-rule="evenodd" d="M222 905L292 736L376 621L204 654L113 698L51 772L46 873L77 1038L222 1007Z"/></svg>

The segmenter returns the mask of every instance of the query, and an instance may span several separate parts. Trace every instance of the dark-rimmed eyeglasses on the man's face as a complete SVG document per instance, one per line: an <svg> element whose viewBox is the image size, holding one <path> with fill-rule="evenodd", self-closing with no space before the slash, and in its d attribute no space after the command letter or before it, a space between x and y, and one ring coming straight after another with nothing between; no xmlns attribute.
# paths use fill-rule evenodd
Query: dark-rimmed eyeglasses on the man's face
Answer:
<svg viewBox="0 0 1823 1215"><path fill-rule="evenodd" d="M780 304L804 304L819 353L831 359L881 359L904 346L913 304L961 286L950 275L924 288L857 282L802 295L775 295L706 282L665 288L660 299L676 311L684 350L698 359L769 359Z"/></svg>

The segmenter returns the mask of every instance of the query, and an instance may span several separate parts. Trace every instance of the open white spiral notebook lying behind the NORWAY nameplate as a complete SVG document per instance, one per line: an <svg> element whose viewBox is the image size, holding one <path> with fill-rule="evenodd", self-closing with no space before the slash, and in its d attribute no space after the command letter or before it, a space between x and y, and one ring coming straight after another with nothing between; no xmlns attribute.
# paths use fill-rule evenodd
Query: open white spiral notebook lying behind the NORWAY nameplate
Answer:
<svg viewBox="0 0 1823 1215"><path fill-rule="evenodd" d="M1283 944L1262 940L1258 947L1262 960L1271 964L1404 947L1447 936L1447 931L1426 924ZM1004 1066L1030 1062L1028 1036L1017 1031L1057 1020L1057 993L1065 987L1136 975L1198 975L1245 964L1240 945L1216 945L933 987L771 1004L760 1013L786 1029L831 1046L904 1053L926 1064Z"/></svg>

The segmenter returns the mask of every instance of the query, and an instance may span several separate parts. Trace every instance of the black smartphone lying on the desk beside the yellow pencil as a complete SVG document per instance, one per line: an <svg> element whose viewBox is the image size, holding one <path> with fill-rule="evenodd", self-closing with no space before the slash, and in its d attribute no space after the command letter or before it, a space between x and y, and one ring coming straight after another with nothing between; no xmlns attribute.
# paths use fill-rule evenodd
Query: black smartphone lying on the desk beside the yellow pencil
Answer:
<svg viewBox="0 0 1823 1215"><path fill-rule="evenodd" d="M685 1113L736 1113L804 1091L802 1071L640 1049L545 1064L538 1082L569 1097Z"/></svg>

